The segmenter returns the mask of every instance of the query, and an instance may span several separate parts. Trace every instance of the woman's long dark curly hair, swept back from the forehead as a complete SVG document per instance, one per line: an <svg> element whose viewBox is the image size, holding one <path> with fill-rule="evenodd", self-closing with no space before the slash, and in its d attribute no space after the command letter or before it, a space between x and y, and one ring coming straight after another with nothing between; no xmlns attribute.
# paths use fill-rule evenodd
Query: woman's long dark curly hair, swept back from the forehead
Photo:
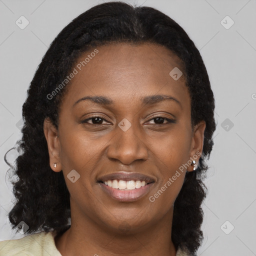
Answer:
<svg viewBox="0 0 256 256"><path fill-rule="evenodd" d="M194 253L203 239L201 203L207 188L202 179L208 169L205 160L209 158L216 127L208 74L193 41L173 19L154 8L124 2L106 2L83 12L62 29L43 56L22 106L24 125L22 138L17 141L22 153L15 161L15 203L9 220L13 228L24 221L29 226L26 234L66 228L70 217L69 192L62 171L54 172L49 166L43 121L49 117L58 127L59 105L68 85L50 100L46 95L65 79L83 52L119 42L156 43L174 52L184 65L191 98L191 125L201 120L206 123L198 168L186 171L173 211L172 242L176 249L179 246Z"/></svg>

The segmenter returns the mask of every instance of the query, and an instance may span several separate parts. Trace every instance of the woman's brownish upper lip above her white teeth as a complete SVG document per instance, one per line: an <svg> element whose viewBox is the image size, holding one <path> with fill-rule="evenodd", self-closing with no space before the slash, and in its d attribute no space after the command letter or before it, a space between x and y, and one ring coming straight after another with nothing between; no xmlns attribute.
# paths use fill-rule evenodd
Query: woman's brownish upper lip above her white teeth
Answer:
<svg viewBox="0 0 256 256"><path fill-rule="evenodd" d="M109 173L103 176L100 176L97 181L107 181L107 180L112 180L112 179L119 179L119 180L141 180L141 181L145 181L146 183L151 183L154 182L155 179L147 176L145 174L142 173L138 173L138 172L114 172L114 173Z"/></svg>

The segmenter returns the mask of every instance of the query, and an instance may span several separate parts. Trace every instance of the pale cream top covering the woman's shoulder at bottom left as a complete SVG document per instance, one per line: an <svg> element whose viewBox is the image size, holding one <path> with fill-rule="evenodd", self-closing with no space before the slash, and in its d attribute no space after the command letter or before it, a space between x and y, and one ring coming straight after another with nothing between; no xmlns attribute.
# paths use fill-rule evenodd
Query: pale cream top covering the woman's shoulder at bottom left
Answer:
<svg viewBox="0 0 256 256"><path fill-rule="evenodd" d="M0 241L0 256L61 256L54 242L55 231L30 234L16 240Z"/></svg>

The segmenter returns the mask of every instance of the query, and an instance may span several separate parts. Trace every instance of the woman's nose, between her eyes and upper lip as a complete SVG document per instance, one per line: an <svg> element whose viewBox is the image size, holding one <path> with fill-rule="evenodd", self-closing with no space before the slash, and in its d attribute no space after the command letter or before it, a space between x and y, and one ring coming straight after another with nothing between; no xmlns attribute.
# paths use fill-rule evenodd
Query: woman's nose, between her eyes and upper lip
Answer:
<svg viewBox="0 0 256 256"><path fill-rule="evenodd" d="M117 126L116 132L107 149L108 158L117 159L123 164L131 164L135 160L144 161L148 158L147 146L135 125L131 125L126 131Z"/></svg>

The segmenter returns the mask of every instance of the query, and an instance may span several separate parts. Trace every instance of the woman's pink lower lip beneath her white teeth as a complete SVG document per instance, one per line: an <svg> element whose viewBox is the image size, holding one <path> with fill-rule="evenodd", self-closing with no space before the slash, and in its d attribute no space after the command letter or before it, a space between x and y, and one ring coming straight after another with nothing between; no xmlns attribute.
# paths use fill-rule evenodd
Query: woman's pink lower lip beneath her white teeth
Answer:
<svg viewBox="0 0 256 256"><path fill-rule="evenodd" d="M99 183L102 189L110 195L113 199L118 201L135 201L149 192L149 189L153 185L153 183L149 183L147 185L141 186L140 188L134 188L130 190L119 190L112 188L104 183Z"/></svg>

